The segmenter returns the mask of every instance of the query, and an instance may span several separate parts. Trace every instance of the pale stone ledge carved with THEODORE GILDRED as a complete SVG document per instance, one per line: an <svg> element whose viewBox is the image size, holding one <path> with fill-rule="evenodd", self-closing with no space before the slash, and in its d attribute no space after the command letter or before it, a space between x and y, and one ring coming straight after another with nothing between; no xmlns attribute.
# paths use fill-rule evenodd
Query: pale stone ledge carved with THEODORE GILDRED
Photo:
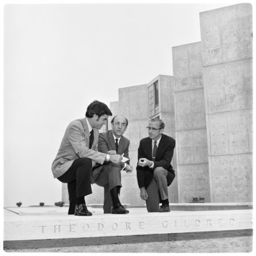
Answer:
<svg viewBox="0 0 256 256"><path fill-rule="evenodd" d="M252 229L253 210L5 218L4 241Z"/></svg>

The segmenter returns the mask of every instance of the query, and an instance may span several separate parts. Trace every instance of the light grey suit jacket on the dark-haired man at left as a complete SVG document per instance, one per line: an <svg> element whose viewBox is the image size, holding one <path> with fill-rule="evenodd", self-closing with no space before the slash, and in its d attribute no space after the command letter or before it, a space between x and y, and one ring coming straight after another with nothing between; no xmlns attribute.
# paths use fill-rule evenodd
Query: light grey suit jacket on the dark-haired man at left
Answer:
<svg viewBox="0 0 256 256"><path fill-rule="evenodd" d="M92 166L104 163L106 154L98 151L98 130L93 129L94 141L89 148L89 129L86 118L77 119L69 123L61 141L59 151L52 163L53 177L60 177L72 166L74 160L79 158L92 159Z"/></svg>

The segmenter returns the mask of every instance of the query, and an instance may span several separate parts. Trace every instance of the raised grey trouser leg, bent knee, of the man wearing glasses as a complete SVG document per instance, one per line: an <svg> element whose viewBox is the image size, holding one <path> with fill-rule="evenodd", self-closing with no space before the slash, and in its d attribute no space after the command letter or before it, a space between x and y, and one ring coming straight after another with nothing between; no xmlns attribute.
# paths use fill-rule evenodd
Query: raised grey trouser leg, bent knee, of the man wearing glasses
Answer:
<svg viewBox="0 0 256 256"><path fill-rule="evenodd" d="M154 170L154 178L162 200L168 199L167 175L168 171L163 167L156 167Z"/></svg>

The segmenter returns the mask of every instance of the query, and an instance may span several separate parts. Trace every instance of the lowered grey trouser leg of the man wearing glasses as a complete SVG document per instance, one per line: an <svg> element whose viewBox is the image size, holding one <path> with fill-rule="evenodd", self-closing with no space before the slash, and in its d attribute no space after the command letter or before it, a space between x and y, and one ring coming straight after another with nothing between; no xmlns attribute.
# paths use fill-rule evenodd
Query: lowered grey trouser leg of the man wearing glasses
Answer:
<svg viewBox="0 0 256 256"><path fill-rule="evenodd" d="M147 211L148 212L159 212L159 195L158 195L158 184L153 177L151 183L148 185L147 189L148 199L146 200Z"/></svg>

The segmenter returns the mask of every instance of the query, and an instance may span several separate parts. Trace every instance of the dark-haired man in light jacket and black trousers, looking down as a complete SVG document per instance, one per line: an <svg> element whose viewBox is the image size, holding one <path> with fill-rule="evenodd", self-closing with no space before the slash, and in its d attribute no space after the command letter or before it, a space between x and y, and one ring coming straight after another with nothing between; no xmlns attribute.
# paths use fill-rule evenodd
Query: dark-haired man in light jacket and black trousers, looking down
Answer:
<svg viewBox="0 0 256 256"><path fill-rule="evenodd" d="M87 108L85 118L69 123L59 151L52 163L53 177L68 183L68 214L91 216L84 197L92 193L90 174L96 163L104 161L119 163L121 155L98 152L98 130L112 115L108 106L93 101Z"/></svg>

